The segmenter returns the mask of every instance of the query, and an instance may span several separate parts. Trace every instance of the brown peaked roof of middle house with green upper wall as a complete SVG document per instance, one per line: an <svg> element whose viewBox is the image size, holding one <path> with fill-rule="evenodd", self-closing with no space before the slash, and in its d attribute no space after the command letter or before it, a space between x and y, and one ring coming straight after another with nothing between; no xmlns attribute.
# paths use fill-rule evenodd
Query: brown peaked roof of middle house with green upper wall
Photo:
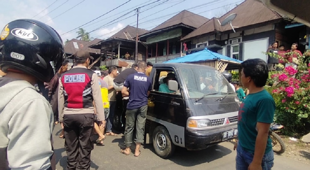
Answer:
<svg viewBox="0 0 310 170"><path fill-rule="evenodd" d="M162 24L158 25L157 27L153 28L149 32L153 32L156 30L161 30L170 26L174 25L179 25L179 24L184 24L191 26L193 28L198 28L201 26L203 23L208 21L209 19L200 15L197 15L193 12L183 10L177 15L173 16L169 20L163 22Z"/></svg>

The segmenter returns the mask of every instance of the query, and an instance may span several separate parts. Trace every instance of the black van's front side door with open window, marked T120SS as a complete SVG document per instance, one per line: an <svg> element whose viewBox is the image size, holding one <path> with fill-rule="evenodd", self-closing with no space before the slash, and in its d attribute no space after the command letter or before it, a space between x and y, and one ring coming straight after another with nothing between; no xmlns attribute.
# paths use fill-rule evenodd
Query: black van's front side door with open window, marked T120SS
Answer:
<svg viewBox="0 0 310 170"><path fill-rule="evenodd" d="M153 67L154 68L154 67ZM179 94L169 91L168 77L174 75L174 80L180 82L173 68L155 68L153 75L153 88L149 95L147 118L162 124L169 131L172 142L175 145L185 147L184 132L186 115L184 99L181 90ZM167 76L168 74L168 76Z"/></svg>

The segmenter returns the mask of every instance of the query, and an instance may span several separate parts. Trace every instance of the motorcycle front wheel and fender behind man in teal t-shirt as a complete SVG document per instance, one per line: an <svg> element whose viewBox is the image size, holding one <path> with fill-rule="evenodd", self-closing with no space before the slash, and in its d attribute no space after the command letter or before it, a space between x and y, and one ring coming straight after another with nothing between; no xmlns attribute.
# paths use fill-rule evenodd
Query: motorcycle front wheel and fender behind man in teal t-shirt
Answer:
<svg viewBox="0 0 310 170"><path fill-rule="evenodd" d="M284 126L278 123L273 123L270 126L269 135L272 140L272 149L273 149L273 152L277 154L283 154L285 152L285 144L283 140L281 139L281 137L277 135L274 131L277 131L283 128ZM277 144L279 144L279 146Z"/></svg>

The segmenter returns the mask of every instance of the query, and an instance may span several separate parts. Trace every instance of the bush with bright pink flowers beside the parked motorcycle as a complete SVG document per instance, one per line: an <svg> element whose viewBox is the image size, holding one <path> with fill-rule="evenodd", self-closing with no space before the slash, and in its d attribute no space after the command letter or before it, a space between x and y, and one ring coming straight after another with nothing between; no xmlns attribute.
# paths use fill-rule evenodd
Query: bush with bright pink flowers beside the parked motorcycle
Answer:
<svg viewBox="0 0 310 170"><path fill-rule="evenodd" d="M271 72L268 80L272 87L267 90L276 102L275 121L286 127L287 135L310 131L310 64L299 62L297 69Z"/></svg>

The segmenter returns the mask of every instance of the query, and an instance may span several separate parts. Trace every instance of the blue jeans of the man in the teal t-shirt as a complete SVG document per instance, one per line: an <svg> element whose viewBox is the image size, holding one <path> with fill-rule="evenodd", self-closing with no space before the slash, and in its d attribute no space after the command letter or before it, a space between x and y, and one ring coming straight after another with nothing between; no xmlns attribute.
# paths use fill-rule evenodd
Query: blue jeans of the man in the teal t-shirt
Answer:
<svg viewBox="0 0 310 170"><path fill-rule="evenodd" d="M237 146L236 156L236 170L248 170L250 163L252 162L254 154L243 149L239 144ZM264 154L262 160L263 170L271 170L273 167L273 150Z"/></svg>

